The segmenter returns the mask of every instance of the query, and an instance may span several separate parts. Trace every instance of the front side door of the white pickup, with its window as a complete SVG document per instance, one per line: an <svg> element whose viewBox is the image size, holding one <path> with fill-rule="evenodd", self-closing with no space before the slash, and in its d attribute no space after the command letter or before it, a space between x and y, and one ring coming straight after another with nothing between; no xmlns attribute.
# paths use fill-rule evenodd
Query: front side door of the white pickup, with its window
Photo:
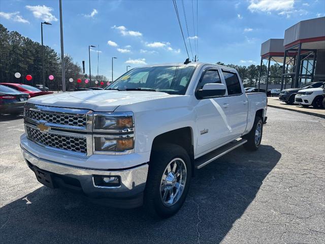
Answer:
<svg viewBox="0 0 325 244"><path fill-rule="evenodd" d="M220 70L216 67L206 68L196 87L202 89L207 83L223 83ZM194 109L197 114L198 141L196 155L200 156L207 151L229 140L230 125L228 116L229 102L225 94L222 97L198 99Z"/></svg>

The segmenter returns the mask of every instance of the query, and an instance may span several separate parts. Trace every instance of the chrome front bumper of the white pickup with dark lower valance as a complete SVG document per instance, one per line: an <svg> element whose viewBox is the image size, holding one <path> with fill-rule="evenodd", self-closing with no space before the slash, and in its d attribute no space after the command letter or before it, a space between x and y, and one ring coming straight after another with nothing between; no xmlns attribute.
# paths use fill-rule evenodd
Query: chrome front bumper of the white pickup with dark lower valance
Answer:
<svg viewBox="0 0 325 244"><path fill-rule="evenodd" d="M29 168L51 173L55 188L79 192L95 202L113 207L133 208L143 203L143 191L148 174L148 164L120 170L96 170L62 165L38 158L21 147L22 155ZM94 175L118 176L120 185L114 187L96 186Z"/></svg>

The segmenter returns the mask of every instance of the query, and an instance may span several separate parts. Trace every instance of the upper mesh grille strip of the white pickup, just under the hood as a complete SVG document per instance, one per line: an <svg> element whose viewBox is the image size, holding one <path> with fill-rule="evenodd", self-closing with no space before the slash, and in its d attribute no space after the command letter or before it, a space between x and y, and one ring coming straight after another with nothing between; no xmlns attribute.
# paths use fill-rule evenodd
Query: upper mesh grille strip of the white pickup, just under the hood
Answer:
<svg viewBox="0 0 325 244"><path fill-rule="evenodd" d="M24 116L32 120L43 120L48 123L74 126L74 127L86 127L87 117L85 115L73 115L65 113L52 113L46 111L37 111L25 108Z"/></svg>

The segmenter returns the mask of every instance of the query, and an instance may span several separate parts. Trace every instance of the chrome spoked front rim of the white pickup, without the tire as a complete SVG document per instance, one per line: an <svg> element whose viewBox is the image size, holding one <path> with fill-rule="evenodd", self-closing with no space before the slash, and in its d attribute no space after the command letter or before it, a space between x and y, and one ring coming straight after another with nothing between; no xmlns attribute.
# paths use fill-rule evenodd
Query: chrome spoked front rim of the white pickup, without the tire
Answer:
<svg viewBox="0 0 325 244"><path fill-rule="evenodd" d="M174 205L182 196L186 183L185 162L176 158L165 168L160 181L160 199L165 206Z"/></svg>

